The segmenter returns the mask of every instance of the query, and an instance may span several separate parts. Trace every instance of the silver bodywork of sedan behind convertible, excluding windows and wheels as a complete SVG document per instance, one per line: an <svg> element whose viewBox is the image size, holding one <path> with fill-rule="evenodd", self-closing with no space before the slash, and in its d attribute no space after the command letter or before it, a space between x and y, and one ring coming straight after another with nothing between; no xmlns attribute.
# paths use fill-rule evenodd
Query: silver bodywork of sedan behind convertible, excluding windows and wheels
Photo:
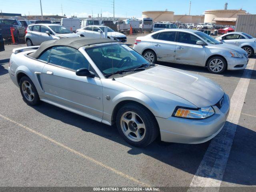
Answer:
<svg viewBox="0 0 256 192"><path fill-rule="evenodd" d="M192 34L206 43L206 46L186 44L181 42L172 42L154 39L152 35L160 32L174 31L174 32L186 32ZM239 70L246 68L248 63L248 57L246 52L231 44L209 44L204 39L196 34L196 30L188 29L168 29L160 30L146 36L137 37L137 44L134 44L134 50L142 54L145 50L154 50L158 61L173 62L178 64L189 64L195 66L206 66L208 58L211 56L219 55L223 56L228 64L228 70ZM238 52L243 55L243 58L231 57L230 51ZM234 68L234 61L242 64L242 68ZM238 64L237 64L238 65Z"/></svg>

